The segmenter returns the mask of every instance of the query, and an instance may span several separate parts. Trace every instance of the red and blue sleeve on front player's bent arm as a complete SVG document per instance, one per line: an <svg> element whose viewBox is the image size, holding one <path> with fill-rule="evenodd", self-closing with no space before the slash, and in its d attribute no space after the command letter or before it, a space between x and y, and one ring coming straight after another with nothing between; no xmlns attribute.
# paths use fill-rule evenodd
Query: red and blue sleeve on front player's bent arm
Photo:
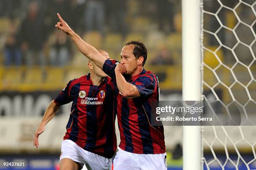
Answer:
<svg viewBox="0 0 256 170"><path fill-rule="evenodd" d="M153 74L142 75L135 81L131 82L138 89L141 96L148 96L156 89L157 82Z"/></svg>

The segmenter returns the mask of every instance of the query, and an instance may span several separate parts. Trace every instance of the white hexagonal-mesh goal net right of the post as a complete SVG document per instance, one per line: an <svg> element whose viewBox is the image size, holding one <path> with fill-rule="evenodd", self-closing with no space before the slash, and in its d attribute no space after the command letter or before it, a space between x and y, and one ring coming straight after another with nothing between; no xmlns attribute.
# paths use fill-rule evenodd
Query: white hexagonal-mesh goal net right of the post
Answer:
<svg viewBox="0 0 256 170"><path fill-rule="evenodd" d="M202 0L202 100L237 126L202 127L202 168L256 169L256 0Z"/></svg>

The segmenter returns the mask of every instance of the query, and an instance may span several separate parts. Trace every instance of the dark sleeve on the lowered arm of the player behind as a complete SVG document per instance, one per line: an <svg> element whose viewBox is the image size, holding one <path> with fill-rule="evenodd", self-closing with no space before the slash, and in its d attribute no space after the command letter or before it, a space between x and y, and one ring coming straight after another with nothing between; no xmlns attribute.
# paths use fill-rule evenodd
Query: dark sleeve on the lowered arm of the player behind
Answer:
<svg viewBox="0 0 256 170"><path fill-rule="evenodd" d="M69 96L69 88L70 88L71 82L72 81L69 81L67 86L64 89L62 89L59 95L54 99L55 104L63 105L73 101L73 99Z"/></svg>

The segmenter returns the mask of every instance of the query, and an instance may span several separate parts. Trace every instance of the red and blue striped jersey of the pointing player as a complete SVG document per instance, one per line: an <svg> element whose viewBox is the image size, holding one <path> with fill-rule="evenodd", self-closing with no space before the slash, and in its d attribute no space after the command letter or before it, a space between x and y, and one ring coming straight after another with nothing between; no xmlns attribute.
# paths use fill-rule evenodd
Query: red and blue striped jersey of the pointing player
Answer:
<svg viewBox="0 0 256 170"><path fill-rule="evenodd" d="M115 66L118 61L106 60L103 71L116 85ZM159 154L165 152L164 127L152 126L151 103L159 101L159 85L155 74L143 71L126 79L135 85L141 94L138 98L125 98L116 87L115 108L117 109L120 145L122 150L138 154Z"/></svg>

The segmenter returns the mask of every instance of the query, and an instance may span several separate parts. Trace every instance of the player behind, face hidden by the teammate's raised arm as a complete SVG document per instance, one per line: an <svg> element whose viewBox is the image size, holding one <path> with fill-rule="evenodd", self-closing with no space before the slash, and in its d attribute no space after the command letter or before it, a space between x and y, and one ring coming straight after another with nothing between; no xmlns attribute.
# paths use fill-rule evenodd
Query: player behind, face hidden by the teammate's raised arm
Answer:
<svg viewBox="0 0 256 170"><path fill-rule="evenodd" d="M98 51L105 59L108 53ZM67 132L61 143L60 170L110 170L116 150L114 122L114 84L108 75L89 60L90 74L69 81L59 95L51 101L35 132L38 136L54 117L59 107L71 101L72 108Z"/></svg>

